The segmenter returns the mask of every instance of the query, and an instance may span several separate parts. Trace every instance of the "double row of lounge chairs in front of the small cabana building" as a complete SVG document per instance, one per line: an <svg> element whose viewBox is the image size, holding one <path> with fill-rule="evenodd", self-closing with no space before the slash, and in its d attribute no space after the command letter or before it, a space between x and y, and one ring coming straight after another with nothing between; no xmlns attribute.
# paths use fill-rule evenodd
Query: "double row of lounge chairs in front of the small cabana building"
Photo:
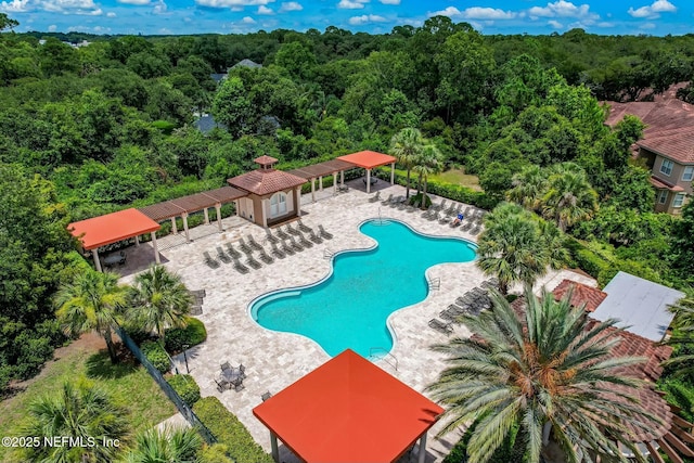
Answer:
<svg viewBox="0 0 694 463"><path fill-rule="evenodd" d="M245 274L252 269L260 269L262 263L273 263L275 258L284 259L287 255L293 256L313 247L314 244L321 244L323 240L332 239L333 234L322 224L319 223L313 230L299 219L295 224L278 227L274 233L267 229L264 244L256 241L252 234L247 234L245 240L241 236L236 243L226 243L226 250L222 246L216 246L217 258L205 250L203 262L210 269L219 268L220 262L232 263L239 273ZM269 249L266 249L265 245L269 245Z"/></svg>

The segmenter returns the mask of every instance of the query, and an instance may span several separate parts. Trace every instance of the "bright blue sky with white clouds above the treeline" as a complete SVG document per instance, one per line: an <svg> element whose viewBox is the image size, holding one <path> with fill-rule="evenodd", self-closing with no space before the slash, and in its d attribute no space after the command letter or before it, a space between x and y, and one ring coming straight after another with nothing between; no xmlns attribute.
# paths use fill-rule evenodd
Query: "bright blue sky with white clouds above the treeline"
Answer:
<svg viewBox="0 0 694 463"><path fill-rule="evenodd" d="M694 0L0 0L17 31L244 34L258 29L387 33L436 14L484 34L694 33Z"/></svg>

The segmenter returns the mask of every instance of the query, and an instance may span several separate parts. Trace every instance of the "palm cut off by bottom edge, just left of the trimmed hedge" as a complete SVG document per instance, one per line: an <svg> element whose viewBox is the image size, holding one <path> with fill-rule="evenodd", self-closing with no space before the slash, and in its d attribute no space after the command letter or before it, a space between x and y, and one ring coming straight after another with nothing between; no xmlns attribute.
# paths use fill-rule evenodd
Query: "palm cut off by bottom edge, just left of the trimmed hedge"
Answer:
<svg viewBox="0 0 694 463"><path fill-rule="evenodd" d="M124 463L195 462L202 439L194 428L150 428L134 438Z"/></svg>

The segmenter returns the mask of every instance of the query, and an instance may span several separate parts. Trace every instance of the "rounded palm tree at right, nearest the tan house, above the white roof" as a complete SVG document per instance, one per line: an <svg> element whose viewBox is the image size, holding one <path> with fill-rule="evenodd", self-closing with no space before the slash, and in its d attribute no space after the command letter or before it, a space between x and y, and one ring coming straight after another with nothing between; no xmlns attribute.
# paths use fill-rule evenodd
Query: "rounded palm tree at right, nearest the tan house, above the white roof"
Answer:
<svg viewBox="0 0 694 463"><path fill-rule="evenodd" d="M553 219L562 231L597 209L597 193L586 172L573 163L558 165L548 178L542 196L542 215Z"/></svg>

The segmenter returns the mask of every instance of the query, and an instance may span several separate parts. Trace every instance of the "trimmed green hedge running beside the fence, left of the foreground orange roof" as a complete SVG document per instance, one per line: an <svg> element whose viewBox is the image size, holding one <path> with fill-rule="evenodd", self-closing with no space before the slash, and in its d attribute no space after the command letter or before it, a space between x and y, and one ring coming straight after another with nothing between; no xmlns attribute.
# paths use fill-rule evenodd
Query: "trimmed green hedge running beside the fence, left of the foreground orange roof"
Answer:
<svg viewBox="0 0 694 463"><path fill-rule="evenodd" d="M227 446L232 460L244 463L273 463L272 456L253 440L248 429L214 396L200 399L193 411L205 426Z"/></svg>

